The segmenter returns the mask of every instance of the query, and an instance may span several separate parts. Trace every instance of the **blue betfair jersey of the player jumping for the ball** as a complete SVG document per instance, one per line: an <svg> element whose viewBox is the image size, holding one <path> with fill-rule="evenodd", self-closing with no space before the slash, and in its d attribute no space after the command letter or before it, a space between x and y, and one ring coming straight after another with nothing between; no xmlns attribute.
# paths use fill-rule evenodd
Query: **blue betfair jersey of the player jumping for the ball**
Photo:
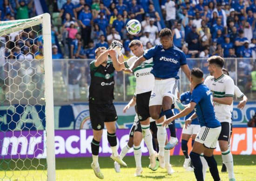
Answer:
<svg viewBox="0 0 256 181"><path fill-rule="evenodd" d="M176 46L164 49L161 44L150 48L143 55L147 60L153 58L153 69L151 73L155 78L176 78L179 79L178 71L181 65L186 65L186 55Z"/></svg>

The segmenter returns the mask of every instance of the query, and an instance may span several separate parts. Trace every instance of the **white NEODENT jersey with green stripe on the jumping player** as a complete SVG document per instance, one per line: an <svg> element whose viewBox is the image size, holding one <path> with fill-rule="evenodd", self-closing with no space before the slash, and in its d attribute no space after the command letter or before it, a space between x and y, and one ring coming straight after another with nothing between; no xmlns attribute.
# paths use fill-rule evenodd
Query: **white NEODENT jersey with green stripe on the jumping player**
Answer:
<svg viewBox="0 0 256 181"><path fill-rule="evenodd" d="M137 59L138 57L133 56L129 58L124 65L126 68L129 68ZM153 66L153 58L145 60L141 63L138 67L136 67L133 72L136 78L136 94L141 94L144 92L152 91L154 85L154 75L150 73Z"/></svg>

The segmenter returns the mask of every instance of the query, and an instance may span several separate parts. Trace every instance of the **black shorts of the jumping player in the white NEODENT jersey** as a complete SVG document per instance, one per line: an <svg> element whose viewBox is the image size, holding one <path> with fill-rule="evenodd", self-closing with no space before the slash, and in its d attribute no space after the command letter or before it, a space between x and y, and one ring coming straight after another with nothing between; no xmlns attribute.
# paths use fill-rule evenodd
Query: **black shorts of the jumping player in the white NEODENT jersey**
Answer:
<svg viewBox="0 0 256 181"><path fill-rule="evenodd" d="M140 121L145 121L146 119L148 119L148 117L150 117L150 114L149 114L150 96L151 96L151 91L136 95L137 114Z"/></svg>

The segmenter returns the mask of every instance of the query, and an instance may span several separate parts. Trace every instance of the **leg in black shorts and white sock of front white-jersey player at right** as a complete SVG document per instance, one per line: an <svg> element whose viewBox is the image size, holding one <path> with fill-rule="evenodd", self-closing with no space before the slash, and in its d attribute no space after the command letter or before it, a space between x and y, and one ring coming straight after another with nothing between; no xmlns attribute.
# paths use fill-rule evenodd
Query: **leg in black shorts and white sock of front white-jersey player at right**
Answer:
<svg viewBox="0 0 256 181"><path fill-rule="evenodd" d="M219 146L222 152L222 161L226 165L228 173L229 173L229 180L235 181L235 174L234 174L234 163L233 163L233 156L229 150L229 139L231 133L231 125L228 122L222 122L222 130L219 136Z"/></svg>

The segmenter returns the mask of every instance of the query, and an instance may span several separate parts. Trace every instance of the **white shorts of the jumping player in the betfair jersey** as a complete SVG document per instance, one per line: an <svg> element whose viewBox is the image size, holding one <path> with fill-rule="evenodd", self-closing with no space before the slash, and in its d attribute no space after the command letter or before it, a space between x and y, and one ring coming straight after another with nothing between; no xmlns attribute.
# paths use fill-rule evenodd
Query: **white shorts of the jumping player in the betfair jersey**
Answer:
<svg viewBox="0 0 256 181"><path fill-rule="evenodd" d="M149 106L162 105L162 98L164 96L171 97L174 103L174 100L177 98L177 92L178 81L175 78L155 80L151 91Z"/></svg>

